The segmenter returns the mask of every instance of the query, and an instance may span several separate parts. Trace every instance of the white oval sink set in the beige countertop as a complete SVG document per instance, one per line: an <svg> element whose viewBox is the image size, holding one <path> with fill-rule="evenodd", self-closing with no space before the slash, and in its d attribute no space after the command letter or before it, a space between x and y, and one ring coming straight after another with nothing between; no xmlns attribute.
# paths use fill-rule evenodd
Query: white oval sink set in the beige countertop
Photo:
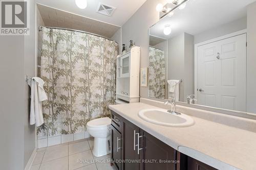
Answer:
<svg viewBox="0 0 256 170"><path fill-rule="evenodd" d="M144 109L139 111L139 117L157 125L170 127L187 127L194 124L193 118L188 115L168 113L165 109Z"/></svg>

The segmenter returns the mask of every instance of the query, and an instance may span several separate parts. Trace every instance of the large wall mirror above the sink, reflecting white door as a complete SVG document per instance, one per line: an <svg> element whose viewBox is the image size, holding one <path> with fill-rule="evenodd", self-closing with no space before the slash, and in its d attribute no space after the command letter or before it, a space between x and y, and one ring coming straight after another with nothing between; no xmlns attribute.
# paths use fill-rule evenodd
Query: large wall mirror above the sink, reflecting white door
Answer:
<svg viewBox="0 0 256 170"><path fill-rule="evenodd" d="M149 97L194 94L196 105L256 113L255 28L255 0L190 0L168 13L149 29Z"/></svg>

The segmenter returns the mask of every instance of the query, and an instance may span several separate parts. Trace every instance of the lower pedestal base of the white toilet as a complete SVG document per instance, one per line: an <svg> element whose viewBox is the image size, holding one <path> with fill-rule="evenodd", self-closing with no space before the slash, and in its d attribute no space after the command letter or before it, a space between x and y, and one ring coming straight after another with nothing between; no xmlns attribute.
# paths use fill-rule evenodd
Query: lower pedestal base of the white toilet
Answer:
<svg viewBox="0 0 256 170"><path fill-rule="evenodd" d="M93 155L96 157L108 155L111 152L111 135L106 138L94 138Z"/></svg>

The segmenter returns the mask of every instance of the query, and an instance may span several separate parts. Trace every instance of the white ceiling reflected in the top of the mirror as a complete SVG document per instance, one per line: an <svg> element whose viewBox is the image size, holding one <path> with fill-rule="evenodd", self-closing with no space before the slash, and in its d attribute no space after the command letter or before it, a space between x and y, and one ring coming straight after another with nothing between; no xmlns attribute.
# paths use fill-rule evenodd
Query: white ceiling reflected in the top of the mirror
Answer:
<svg viewBox="0 0 256 170"><path fill-rule="evenodd" d="M150 28L150 34L169 39L179 33L191 35L217 28L247 15L246 6L256 0L190 0L186 8L177 9L172 17L164 17ZM170 25L172 33L163 34L165 25Z"/></svg>

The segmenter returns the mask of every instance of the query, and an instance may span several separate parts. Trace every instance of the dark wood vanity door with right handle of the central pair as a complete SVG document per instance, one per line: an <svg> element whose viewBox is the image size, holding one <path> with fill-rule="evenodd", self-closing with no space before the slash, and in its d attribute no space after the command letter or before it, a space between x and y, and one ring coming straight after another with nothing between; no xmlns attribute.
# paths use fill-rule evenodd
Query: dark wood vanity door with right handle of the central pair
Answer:
<svg viewBox="0 0 256 170"><path fill-rule="evenodd" d="M143 156L140 169L143 170L174 170L176 169L176 150L169 147L154 136L143 132ZM142 147L142 144L141 144ZM148 163L146 161L156 160ZM161 162L160 162L161 161ZM163 162L164 161L164 162Z"/></svg>

